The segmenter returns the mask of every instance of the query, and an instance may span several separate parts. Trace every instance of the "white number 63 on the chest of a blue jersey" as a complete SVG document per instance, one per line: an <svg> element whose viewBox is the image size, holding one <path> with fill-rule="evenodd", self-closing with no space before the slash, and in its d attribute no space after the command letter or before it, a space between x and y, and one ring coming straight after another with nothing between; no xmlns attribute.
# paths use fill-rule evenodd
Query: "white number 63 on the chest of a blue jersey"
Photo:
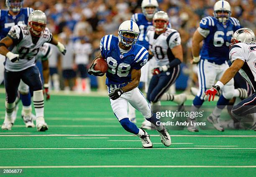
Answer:
<svg viewBox="0 0 256 177"><path fill-rule="evenodd" d="M227 34L226 34L226 46L229 46L230 45L230 41L231 40L231 37L233 35L233 31L228 31ZM221 47L223 46L224 44L224 38L225 38L225 33L223 31L216 31L214 33L214 37L213 37L213 45L215 47Z"/></svg>

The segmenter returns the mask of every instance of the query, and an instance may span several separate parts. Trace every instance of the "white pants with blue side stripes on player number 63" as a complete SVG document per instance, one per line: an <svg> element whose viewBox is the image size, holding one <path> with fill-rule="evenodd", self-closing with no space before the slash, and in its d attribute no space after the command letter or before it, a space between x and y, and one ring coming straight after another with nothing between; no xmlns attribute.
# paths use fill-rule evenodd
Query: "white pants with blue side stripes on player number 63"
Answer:
<svg viewBox="0 0 256 177"><path fill-rule="evenodd" d="M228 68L229 66L227 62L222 65L216 65L208 62L206 59L200 60L197 72L199 82L199 91L197 92L197 96L200 97L200 100L204 99L205 91L210 89L212 85L215 85L216 80L220 80ZM231 79L222 89L223 97L227 100L232 99L234 90L234 79Z"/></svg>

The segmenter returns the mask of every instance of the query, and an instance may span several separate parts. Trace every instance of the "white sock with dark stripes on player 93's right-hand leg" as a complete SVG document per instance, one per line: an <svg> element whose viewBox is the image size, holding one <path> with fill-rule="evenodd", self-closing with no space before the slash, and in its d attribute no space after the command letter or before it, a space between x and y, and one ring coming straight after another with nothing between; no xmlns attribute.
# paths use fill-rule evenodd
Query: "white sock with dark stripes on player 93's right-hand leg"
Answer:
<svg viewBox="0 0 256 177"><path fill-rule="evenodd" d="M44 117L44 94L43 90L34 91L33 102L36 111L36 118Z"/></svg>

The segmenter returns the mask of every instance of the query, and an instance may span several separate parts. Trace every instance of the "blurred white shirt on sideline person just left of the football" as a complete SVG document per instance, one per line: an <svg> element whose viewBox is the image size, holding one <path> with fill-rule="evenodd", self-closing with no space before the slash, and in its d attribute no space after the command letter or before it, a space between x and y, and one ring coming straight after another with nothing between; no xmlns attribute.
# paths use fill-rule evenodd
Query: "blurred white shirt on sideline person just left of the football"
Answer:
<svg viewBox="0 0 256 177"><path fill-rule="evenodd" d="M90 43L76 42L74 45L75 63L77 65L89 63L89 55L92 53L92 45Z"/></svg>

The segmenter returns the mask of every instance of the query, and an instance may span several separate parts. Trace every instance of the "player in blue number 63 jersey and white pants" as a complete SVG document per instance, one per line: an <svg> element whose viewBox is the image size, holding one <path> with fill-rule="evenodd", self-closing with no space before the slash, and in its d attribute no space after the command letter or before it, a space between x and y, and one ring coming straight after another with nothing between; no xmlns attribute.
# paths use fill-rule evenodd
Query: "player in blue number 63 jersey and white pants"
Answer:
<svg viewBox="0 0 256 177"><path fill-rule="evenodd" d="M225 0L219 0L214 5L214 17L208 16L202 18L200 27L197 28L192 37L192 54L193 64L198 63L198 80L199 91L193 100L192 112L202 106L204 93L214 85L215 80L220 79L225 70L229 67L228 50L231 37L234 31L240 28L239 21L236 18L230 17L231 7ZM200 51L200 42L203 42ZM213 112L207 117L207 120L219 130L224 131L224 128L219 124L221 111L228 105L230 99L234 95L234 80L231 79L224 87L222 95L217 102L217 106ZM195 119L188 118L188 122L195 122ZM189 125L190 132L197 132L196 126Z"/></svg>

